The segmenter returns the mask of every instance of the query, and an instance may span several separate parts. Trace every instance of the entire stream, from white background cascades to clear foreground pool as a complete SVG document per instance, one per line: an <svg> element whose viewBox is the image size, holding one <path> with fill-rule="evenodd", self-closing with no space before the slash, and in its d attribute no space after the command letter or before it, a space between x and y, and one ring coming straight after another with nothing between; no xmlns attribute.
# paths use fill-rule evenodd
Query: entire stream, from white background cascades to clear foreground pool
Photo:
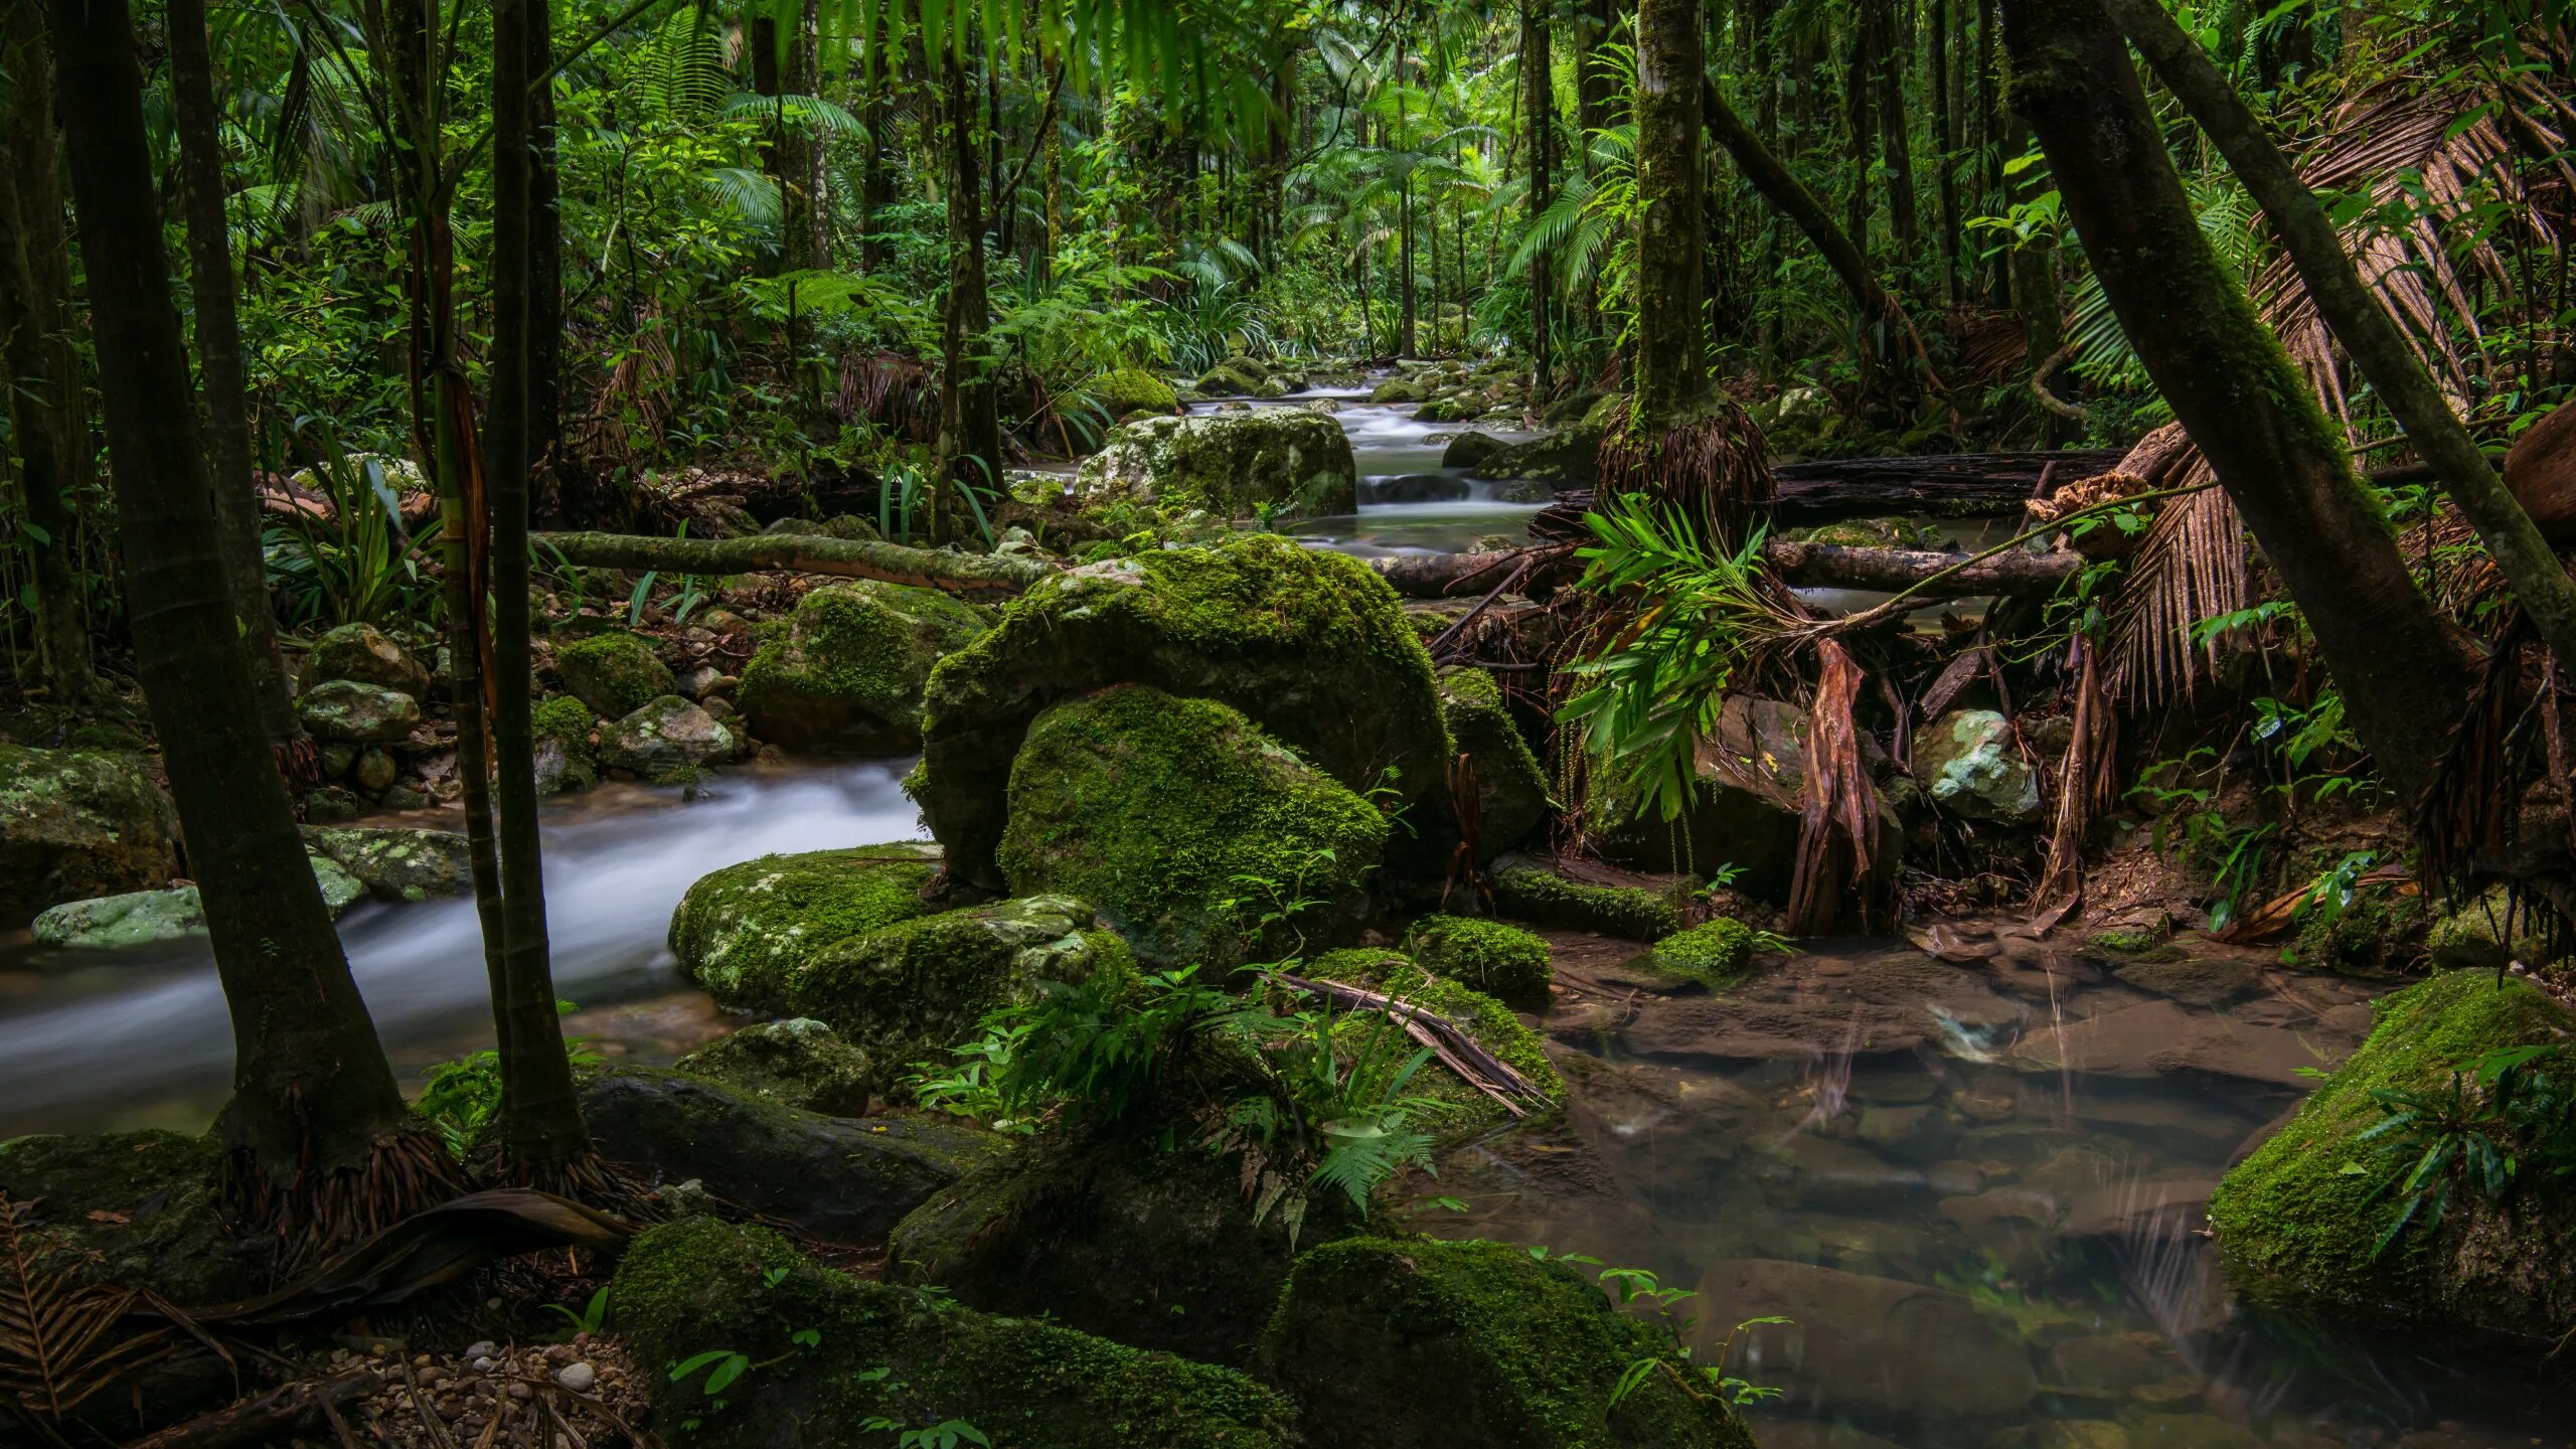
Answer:
<svg viewBox="0 0 2576 1449"><path fill-rule="evenodd" d="M1443 472L1435 425L1340 413L1368 480ZM1363 485L1365 487L1365 485ZM1306 523L1352 554L1450 552L1533 505L1363 503ZM909 761L724 773L698 799L603 786L544 817L567 1029L667 1062L732 1021L665 949L701 874L917 838ZM412 822L438 822L430 817ZM397 1070L489 1042L471 902L343 920ZM1935 959L1837 941L1728 998L1656 995L1633 946L1551 933L1543 1029L1564 1122L1453 1150L1432 1232L1638 1266L1703 1361L1770 1390L1765 1449L2568 1449L2576 1403L2514 1359L2236 1305L2195 1230L2208 1186L2367 1031L2370 990L2231 962L2226 990L1965 928ZM2195 946L2197 949L2197 946ZM198 949L39 951L0 936L0 1140L204 1129L229 1026ZM1734 1336L1744 1318L1777 1315Z"/></svg>

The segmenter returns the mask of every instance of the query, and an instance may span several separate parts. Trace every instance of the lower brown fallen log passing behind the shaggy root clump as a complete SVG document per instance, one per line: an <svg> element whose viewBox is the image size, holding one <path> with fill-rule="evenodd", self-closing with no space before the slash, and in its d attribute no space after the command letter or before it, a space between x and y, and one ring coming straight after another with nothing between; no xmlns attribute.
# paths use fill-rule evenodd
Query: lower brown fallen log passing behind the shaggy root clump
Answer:
<svg viewBox="0 0 2576 1449"><path fill-rule="evenodd" d="M1989 593L2053 593L2069 575L2084 567L2084 559L2069 549L2050 549L2045 554L1999 554L1981 559L1976 565L1960 567L1953 575L1935 578L1942 570L1958 567L1968 554L1942 554L1932 549L1865 549L1844 544L1798 544L1798 541L1772 541L1762 544L1762 562L1770 565L1783 583L1795 588L1868 588L1896 593L1901 588L1919 588L1924 601L1932 598L1978 598ZM1525 588L1540 583L1566 583L1582 572L1582 559L1574 549L1504 549L1494 554L1417 554L1399 559L1370 559L1396 593L1404 598L1468 598L1481 590L1494 588L1494 583L1512 578L1525 562L1538 567L1530 570ZM1929 580L1929 583L1927 583Z"/></svg>

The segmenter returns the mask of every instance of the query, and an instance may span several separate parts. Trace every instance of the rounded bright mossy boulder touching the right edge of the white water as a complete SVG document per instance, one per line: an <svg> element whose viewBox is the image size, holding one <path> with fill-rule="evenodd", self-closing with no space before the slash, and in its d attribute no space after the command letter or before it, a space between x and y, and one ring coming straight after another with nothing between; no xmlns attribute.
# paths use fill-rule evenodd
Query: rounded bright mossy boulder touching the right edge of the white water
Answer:
<svg viewBox="0 0 2576 1449"><path fill-rule="evenodd" d="M922 841L760 856L698 877L670 918L688 980L734 1011L786 1011L788 982L817 951L927 915L940 848Z"/></svg>

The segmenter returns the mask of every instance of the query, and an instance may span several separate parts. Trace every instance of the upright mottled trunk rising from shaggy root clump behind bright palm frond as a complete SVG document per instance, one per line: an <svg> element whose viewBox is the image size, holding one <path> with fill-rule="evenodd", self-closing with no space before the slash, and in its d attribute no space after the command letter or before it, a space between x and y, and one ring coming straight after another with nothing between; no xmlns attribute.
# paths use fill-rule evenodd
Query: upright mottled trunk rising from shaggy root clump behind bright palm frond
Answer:
<svg viewBox="0 0 2576 1449"><path fill-rule="evenodd" d="M1708 405L1700 343L1700 3L1636 8L1636 433Z"/></svg>

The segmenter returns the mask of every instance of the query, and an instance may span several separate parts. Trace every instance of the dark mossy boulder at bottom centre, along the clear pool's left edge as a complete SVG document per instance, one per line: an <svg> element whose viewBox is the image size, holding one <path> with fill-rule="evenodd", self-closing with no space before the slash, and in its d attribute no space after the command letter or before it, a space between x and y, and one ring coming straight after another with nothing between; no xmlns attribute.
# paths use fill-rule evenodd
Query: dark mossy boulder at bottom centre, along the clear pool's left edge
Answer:
<svg viewBox="0 0 2576 1449"><path fill-rule="evenodd" d="M1327 1243L1298 1258L1262 1356L1316 1449L1754 1449L1669 1341L1507 1243ZM1667 1369L1613 1405L1638 1359Z"/></svg>

